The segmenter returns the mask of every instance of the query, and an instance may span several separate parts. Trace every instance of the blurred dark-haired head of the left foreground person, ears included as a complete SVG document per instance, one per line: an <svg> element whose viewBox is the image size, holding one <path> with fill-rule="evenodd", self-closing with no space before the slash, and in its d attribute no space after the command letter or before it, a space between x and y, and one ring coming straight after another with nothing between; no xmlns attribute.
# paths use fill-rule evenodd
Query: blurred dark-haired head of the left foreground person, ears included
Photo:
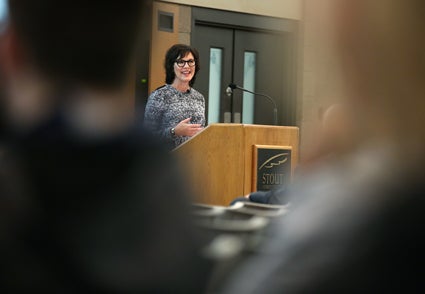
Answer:
<svg viewBox="0 0 425 294"><path fill-rule="evenodd" d="M76 128L91 133L128 124L128 85L143 5L139 0L119 5L99 0L9 0L0 44L8 128L36 126L59 106L72 112L68 116Z"/></svg>

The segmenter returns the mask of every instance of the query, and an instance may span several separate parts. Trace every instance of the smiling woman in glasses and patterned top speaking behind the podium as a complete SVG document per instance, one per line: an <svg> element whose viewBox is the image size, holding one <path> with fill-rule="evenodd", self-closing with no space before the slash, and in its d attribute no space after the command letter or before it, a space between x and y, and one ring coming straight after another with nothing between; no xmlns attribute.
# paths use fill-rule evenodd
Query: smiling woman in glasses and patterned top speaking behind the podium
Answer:
<svg viewBox="0 0 425 294"><path fill-rule="evenodd" d="M145 126L175 148L205 126L204 96L192 88L198 73L195 48L177 44L165 56L165 85L148 98Z"/></svg>

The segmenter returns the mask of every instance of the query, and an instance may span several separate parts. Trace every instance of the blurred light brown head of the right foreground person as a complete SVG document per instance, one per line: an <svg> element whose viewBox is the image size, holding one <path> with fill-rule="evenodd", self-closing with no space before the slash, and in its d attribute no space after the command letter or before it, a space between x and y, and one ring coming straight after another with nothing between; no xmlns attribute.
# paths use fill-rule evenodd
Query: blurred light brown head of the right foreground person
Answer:
<svg viewBox="0 0 425 294"><path fill-rule="evenodd" d="M349 107L362 139L391 142L403 157L425 145L425 2L330 0ZM419 156L419 157L418 157Z"/></svg>

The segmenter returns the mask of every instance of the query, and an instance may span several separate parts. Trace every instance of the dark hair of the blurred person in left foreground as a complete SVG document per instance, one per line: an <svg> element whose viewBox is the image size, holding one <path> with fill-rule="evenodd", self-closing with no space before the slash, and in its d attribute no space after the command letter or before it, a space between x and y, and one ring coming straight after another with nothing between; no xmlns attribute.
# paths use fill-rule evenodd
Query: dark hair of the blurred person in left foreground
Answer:
<svg viewBox="0 0 425 294"><path fill-rule="evenodd" d="M125 81L142 8L141 0L9 0L18 40L43 74L108 88Z"/></svg>

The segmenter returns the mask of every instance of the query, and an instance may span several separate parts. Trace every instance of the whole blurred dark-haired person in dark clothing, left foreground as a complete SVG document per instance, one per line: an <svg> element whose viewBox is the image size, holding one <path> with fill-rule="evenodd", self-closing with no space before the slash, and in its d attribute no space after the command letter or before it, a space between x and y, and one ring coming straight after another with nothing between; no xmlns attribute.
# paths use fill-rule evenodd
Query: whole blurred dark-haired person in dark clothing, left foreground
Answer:
<svg viewBox="0 0 425 294"><path fill-rule="evenodd" d="M8 4L0 292L201 292L178 167L126 106L144 2Z"/></svg>

